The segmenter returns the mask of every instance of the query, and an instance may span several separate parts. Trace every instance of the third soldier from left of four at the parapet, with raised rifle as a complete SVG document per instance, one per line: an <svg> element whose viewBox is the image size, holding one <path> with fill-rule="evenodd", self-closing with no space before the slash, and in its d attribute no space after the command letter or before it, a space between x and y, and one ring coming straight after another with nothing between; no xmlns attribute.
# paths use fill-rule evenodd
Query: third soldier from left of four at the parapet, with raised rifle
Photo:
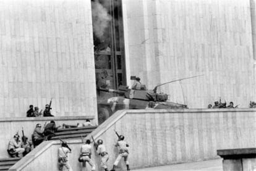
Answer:
<svg viewBox="0 0 256 171"><path fill-rule="evenodd" d="M96 148L96 152L101 156L101 167L103 167L105 171L108 171L107 162L108 162L109 156L108 156L108 152L106 152L105 146L103 145L103 140L99 139L96 143L93 136L92 136L92 140Z"/></svg>

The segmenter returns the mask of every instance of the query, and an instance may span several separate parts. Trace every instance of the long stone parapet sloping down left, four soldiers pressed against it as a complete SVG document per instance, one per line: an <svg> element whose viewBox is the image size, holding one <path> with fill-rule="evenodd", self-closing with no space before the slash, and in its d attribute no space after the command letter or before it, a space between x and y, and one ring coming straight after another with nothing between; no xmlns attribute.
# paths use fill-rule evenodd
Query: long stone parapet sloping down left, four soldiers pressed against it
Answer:
<svg viewBox="0 0 256 171"><path fill-rule="evenodd" d="M216 149L252 148L256 143L255 109L184 109L117 111L92 132L101 138L109 153L112 167L118 151L114 146L114 130L130 144L131 168L153 167L181 162L202 161L218 157ZM87 138L90 138L89 135ZM17 162L12 170L58 170L58 141L40 144L38 149ZM73 170L80 170L77 161L81 140L70 140L69 156ZM92 155L96 170L100 157ZM118 167L125 168L121 161Z"/></svg>

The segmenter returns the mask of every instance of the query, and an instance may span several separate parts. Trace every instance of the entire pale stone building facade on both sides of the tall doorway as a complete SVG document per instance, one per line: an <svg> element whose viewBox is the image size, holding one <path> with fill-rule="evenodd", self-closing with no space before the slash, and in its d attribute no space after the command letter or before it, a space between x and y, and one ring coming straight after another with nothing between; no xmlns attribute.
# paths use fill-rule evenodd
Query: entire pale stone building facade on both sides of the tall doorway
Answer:
<svg viewBox="0 0 256 171"><path fill-rule="evenodd" d="M93 16L103 14L95 2L111 24L105 51L95 49ZM113 9L90 0L0 2L1 117L25 117L30 104L44 108L51 98L56 116L96 116L97 75L105 73L111 88L136 75L148 89L203 75L160 88L189 108L255 101L253 1L105 2Z"/></svg>

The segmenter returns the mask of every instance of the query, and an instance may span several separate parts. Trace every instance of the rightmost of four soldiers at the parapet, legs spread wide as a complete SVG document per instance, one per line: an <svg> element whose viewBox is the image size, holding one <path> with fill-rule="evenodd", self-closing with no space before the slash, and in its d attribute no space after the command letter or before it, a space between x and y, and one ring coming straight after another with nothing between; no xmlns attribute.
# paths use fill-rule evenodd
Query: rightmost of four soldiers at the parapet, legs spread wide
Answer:
<svg viewBox="0 0 256 171"><path fill-rule="evenodd" d="M117 164L119 163L122 157L124 157L124 162L126 162L127 170L130 170L129 162L127 160L129 155L129 151L128 151L129 144L127 144L126 141L124 141L123 135L119 136L115 146L119 147L119 155L117 156L116 161L114 162L114 165L113 165L113 169L111 171L115 171L114 169L116 168Z"/></svg>

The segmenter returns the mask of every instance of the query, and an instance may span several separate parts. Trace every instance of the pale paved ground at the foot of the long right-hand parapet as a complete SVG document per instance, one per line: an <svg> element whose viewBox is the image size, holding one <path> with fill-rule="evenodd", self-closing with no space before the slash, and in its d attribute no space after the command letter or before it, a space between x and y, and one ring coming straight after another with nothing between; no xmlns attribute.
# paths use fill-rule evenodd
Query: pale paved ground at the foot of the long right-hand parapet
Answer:
<svg viewBox="0 0 256 171"><path fill-rule="evenodd" d="M138 169L133 171L223 171L221 159L193 162L186 164L174 164L174 165L164 165L160 167L150 167L144 169Z"/></svg>

